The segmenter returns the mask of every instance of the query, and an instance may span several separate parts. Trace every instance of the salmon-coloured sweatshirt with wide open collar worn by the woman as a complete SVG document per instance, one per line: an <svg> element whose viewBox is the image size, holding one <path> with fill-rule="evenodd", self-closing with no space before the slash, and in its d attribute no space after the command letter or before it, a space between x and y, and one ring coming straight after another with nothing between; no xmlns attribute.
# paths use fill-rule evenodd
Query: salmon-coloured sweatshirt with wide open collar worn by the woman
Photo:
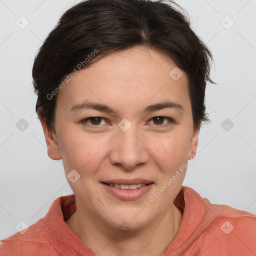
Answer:
<svg viewBox="0 0 256 256"><path fill-rule="evenodd" d="M256 255L256 215L211 204L186 186L181 187L174 204L183 212L182 222L160 256ZM75 210L73 194L58 197L47 214L25 233L2 239L0 255L94 256L97 251L92 252L65 223Z"/></svg>

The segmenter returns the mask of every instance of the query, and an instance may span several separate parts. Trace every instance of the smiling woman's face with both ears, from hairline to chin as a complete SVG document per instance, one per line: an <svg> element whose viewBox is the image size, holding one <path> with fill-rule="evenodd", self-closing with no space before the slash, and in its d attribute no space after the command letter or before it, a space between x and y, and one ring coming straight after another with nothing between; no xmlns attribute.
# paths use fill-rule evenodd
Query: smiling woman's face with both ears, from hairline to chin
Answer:
<svg viewBox="0 0 256 256"><path fill-rule="evenodd" d="M48 155L62 158L77 212L141 228L173 206L196 150L186 74L145 47L108 55L58 92L55 132Z"/></svg>

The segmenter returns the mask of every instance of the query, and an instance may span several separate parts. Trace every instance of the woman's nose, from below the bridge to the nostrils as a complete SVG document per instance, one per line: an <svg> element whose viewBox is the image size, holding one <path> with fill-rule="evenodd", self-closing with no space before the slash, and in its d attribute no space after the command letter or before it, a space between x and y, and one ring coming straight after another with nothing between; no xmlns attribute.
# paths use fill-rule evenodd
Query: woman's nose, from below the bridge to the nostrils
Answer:
<svg viewBox="0 0 256 256"><path fill-rule="evenodd" d="M126 131L120 129L112 142L109 159L113 165L131 170L148 162L149 149L132 126Z"/></svg>

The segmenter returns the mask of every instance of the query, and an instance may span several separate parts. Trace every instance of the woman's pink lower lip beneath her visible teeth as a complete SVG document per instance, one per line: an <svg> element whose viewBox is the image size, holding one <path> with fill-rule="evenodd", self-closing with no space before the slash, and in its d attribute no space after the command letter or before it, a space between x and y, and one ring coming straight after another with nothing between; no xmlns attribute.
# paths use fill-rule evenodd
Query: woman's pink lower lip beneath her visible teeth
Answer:
<svg viewBox="0 0 256 256"><path fill-rule="evenodd" d="M153 185L153 183L150 183L146 186L141 186L136 189L121 189L114 186L106 185L105 183L101 184L105 187L105 189L113 194L114 196L118 197L122 200L135 200L145 194Z"/></svg>

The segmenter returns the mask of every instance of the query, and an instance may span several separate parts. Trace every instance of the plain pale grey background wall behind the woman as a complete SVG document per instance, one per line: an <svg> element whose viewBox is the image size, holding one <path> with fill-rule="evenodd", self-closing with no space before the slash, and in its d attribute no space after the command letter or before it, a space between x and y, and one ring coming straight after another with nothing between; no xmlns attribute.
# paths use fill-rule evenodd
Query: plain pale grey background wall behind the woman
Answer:
<svg viewBox="0 0 256 256"><path fill-rule="evenodd" d="M0 0L0 238L15 233L21 220L36 222L55 198L72 193L61 160L47 155L34 111L31 68L36 50L74 3ZM211 49L217 82L207 85L211 123L200 130L201 155L189 166L183 184L212 203L256 214L256 0L177 3ZM29 24L21 29L26 20ZM23 130L21 118L28 125Z"/></svg>

